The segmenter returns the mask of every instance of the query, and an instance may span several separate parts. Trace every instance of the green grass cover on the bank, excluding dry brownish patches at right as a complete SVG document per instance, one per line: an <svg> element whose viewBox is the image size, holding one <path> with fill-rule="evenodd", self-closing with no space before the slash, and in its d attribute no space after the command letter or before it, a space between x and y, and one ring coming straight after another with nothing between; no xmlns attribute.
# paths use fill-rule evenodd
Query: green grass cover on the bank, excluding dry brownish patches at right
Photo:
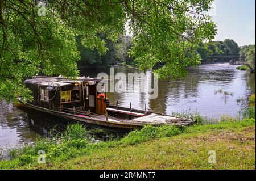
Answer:
<svg viewBox="0 0 256 181"><path fill-rule="evenodd" d="M193 149L199 149L200 154L203 154L205 150L211 146L214 148L218 144L223 145L223 148L222 146L220 147L223 154L230 154L227 157L237 157L237 151L240 151L240 149L245 151L245 154L254 154L254 159L250 156L250 159L244 159L248 162L243 163L246 164L244 166L245 168L251 169L253 162L255 166L255 140L254 144L252 143L253 141L249 141L247 145L238 144L237 147L235 146L233 148L234 152L229 152L228 150L225 152L225 146L230 146L225 145L228 144L226 140L220 139L218 142L205 142L203 144L204 135L209 136L213 134L212 137L214 139L214 134L222 134L222 132L226 134L227 131L233 134L234 132L241 132L241 130L246 128L255 128L255 119L244 119L242 121L226 119L222 120L220 124L193 125L187 128L177 128L167 125L163 127L152 127L148 125L141 130L130 132L121 139L92 143L88 141L86 132L81 125L72 124L69 125L67 131L60 137L56 136L57 138L55 137L54 139L38 139L34 146L26 146L22 150L13 151L12 159L0 162L0 169L162 169L159 164L164 165L168 159L171 159L170 154L175 157L174 160L170 160L173 164L175 161L177 161L177 164L179 162L183 162L183 164L189 162L188 165L182 166L183 169L189 169L192 162L195 162L198 168L214 169L212 166L206 166L205 161L200 165L201 162L198 160L200 157L199 155L196 158L194 157ZM243 132L239 134L243 136ZM250 134L254 134L255 139L255 129ZM198 142L198 140L202 142ZM175 142L176 144L174 144ZM199 143L199 147L195 145L195 142ZM170 150L165 149L164 145L166 144L171 146L169 148ZM189 144L193 144L193 148L190 148ZM203 150L200 150L200 145ZM186 146L188 146L188 150L186 150ZM192 149L192 152L189 149ZM218 150L218 146L214 149ZM253 149L254 152L251 152ZM46 164L37 163L39 150L46 152ZM175 150L179 151L176 153ZM184 153L180 153L182 150ZM166 151L170 151L170 154L166 154ZM165 154L161 155L162 152ZM152 154L150 157L147 155L149 153ZM183 160L183 154L188 154L188 157L184 156L185 160ZM138 161L130 165L131 160L129 159L129 155L138 159ZM150 162L150 165L147 167L144 165L144 158L147 158L148 162ZM223 164L225 159L222 161ZM109 167L108 164L113 162L115 164L110 164L111 166ZM236 166L239 166L240 162L241 159L238 159L237 162L234 162L232 168L238 168ZM163 168L170 167L166 166Z"/></svg>

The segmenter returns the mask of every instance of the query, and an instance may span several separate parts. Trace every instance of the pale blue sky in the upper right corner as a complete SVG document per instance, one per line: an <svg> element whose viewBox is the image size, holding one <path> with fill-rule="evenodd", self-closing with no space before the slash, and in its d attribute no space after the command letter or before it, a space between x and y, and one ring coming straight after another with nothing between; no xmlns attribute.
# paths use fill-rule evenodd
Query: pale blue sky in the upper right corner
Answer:
<svg viewBox="0 0 256 181"><path fill-rule="evenodd" d="M255 44L255 0L214 0L215 40L233 39L239 46Z"/></svg>

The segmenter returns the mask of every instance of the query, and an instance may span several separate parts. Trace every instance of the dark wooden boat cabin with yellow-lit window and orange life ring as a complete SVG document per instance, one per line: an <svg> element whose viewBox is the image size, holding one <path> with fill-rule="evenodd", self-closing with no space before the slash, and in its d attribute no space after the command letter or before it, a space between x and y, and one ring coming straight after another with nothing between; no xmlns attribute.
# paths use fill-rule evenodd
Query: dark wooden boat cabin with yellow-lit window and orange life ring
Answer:
<svg viewBox="0 0 256 181"><path fill-rule="evenodd" d="M99 82L109 80L80 77L76 81L62 77L35 76L25 81L32 91L33 100L29 103L53 111L89 111L98 115L106 113L104 86L97 91Z"/></svg>

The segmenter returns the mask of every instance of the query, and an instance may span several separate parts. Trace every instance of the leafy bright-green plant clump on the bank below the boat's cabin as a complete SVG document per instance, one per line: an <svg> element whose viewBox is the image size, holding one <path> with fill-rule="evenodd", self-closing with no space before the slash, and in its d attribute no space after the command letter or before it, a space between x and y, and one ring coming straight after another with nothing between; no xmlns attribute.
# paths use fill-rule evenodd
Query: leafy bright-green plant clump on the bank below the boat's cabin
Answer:
<svg viewBox="0 0 256 181"><path fill-rule="evenodd" d="M51 131L53 133L54 130ZM10 150L9 159L17 159L18 165L23 166L37 161L38 151L46 153L48 161L52 159L69 159L85 154L89 145L87 131L81 124L69 124L64 133L54 133L50 138L38 137L34 145L24 146L21 149Z"/></svg>

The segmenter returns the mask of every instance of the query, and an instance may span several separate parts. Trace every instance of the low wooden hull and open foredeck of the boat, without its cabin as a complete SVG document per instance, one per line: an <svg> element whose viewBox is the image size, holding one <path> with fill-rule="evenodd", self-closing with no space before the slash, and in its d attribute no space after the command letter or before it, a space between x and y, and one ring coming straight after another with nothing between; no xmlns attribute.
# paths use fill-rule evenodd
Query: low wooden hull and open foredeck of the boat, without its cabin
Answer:
<svg viewBox="0 0 256 181"><path fill-rule="evenodd" d="M54 110L49 110L46 108L34 106L28 103L26 103L25 106L28 108L32 108L36 111L49 113L53 116L63 117L64 119L81 121L82 123L88 124L88 126L90 127L106 129L108 131L113 131L113 132L127 132L127 131L130 131L131 129L142 128L144 125L155 125L155 126L175 125L177 127L183 127L183 126L192 125L194 123L192 120L189 120L189 119L178 118L178 117L168 116L163 114L161 115L160 113L154 113L154 112L148 112L147 115L144 115L141 117L137 116L137 118L129 120L129 119L118 119L110 115L107 118L106 116L96 115L94 113L88 116L81 113L72 114L67 112L54 111ZM126 112L125 110L122 110L122 111ZM130 112L130 113L133 113L133 112ZM135 112L135 113L139 114L138 112ZM141 113L141 115L143 114Z"/></svg>

